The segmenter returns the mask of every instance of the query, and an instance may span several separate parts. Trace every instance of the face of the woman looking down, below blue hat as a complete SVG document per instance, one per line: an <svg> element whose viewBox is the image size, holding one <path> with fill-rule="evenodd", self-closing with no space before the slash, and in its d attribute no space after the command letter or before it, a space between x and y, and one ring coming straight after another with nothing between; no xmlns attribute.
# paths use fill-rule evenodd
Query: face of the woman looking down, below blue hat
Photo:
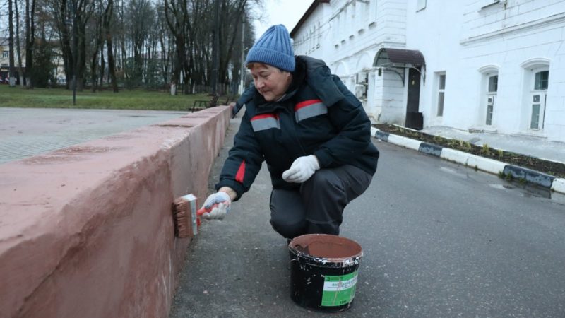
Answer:
<svg viewBox="0 0 565 318"><path fill-rule="evenodd" d="M280 71L275 66L268 64L253 63L249 70L253 76L255 88L268 102L282 98L292 81L290 72Z"/></svg>

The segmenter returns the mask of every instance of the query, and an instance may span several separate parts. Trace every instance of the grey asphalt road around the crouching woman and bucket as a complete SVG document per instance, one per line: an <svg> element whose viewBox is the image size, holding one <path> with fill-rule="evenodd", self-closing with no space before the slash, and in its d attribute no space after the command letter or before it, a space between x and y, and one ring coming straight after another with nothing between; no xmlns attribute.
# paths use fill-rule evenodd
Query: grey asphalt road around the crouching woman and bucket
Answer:
<svg viewBox="0 0 565 318"><path fill-rule="evenodd" d="M341 228L364 250L355 303L336 317L565 317L562 196L374 143L379 169ZM201 227L171 317L326 316L290 299L287 246L268 223L269 194L263 167L225 220Z"/></svg>

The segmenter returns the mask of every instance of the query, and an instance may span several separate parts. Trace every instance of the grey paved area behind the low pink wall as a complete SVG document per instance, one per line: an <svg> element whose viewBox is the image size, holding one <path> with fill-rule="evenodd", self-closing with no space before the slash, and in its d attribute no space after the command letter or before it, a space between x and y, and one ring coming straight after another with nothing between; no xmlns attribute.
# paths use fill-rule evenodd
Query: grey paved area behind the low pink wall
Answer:
<svg viewBox="0 0 565 318"><path fill-rule="evenodd" d="M184 114L186 112L0 107L0 164Z"/></svg>

